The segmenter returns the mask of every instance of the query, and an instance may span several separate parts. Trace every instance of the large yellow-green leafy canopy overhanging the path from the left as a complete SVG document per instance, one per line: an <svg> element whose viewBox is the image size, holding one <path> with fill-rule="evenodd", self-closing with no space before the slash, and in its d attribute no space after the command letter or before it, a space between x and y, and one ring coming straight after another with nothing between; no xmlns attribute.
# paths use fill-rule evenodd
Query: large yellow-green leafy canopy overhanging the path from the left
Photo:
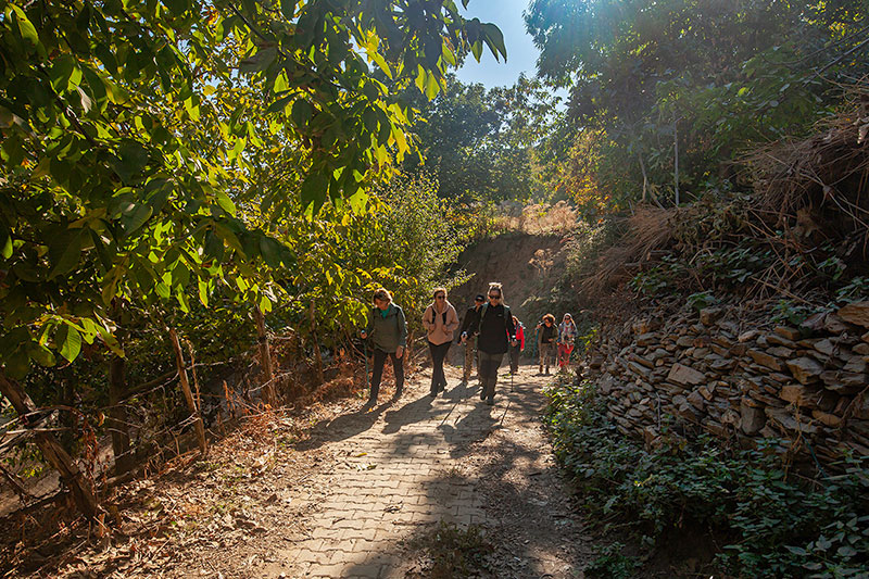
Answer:
<svg viewBox="0 0 869 579"><path fill-rule="evenodd" d="M411 151L401 95L434 97L496 27L451 0L0 2L0 349L5 372L123 351L116 300L218 286L269 306L294 200L354 207ZM275 163L270 163L274 161ZM274 173L273 187L253 180ZM250 209L265 212L252 215ZM280 275L280 274L279 274Z"/></svg>

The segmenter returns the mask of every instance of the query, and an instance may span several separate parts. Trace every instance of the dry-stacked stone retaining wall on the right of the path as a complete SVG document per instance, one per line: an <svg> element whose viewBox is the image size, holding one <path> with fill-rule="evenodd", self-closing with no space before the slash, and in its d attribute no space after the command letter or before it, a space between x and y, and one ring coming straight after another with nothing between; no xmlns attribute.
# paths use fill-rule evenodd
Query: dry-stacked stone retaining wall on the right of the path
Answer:
<svg viewBox="0 0 869 579"><path fill-rule="evenodd" d="M765 329L734 310L658 312L604 332L585 364L619 430L654 443L672 416L743 445L790 440L783 452L826 465L869 456L869 302Z"/></svg>

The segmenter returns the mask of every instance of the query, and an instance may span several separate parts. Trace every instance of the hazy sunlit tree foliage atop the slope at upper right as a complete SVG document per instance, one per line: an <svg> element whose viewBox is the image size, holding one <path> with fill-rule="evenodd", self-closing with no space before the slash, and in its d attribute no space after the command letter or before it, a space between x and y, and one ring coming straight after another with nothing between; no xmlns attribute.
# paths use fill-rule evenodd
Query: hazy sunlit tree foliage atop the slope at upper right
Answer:
<svg viewBox="0 0 869 579"><path fill-rule="evenodd" d="M727 194L746 148L805 133L869 72L867 8L533 0L538 72L570 90L550 182L590 211Z"/></svg>

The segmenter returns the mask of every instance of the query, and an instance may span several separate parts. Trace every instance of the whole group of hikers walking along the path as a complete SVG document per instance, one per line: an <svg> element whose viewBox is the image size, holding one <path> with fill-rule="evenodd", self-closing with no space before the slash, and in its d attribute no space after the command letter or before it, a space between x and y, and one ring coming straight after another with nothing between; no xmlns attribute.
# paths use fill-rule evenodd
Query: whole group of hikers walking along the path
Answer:
<svg viewBox="0 0 869 579"><path fill-rule="evenodd" d="M443 362L453 340L465 347L465 365L462 385L467 385L477 358L477 376L480 381L480 400L494 404L498 369L509 355L509 372L519 370L519 355L525 351L525 325L511 313L504 304L504 291L499 282L489 284L487 295L478 294L474 305L465 313L461 323L455 306L446 299L446 288L436 288L433 301L423 314L432 372L429 395L434 398L446 387ZM395 399L404 387L404 364L402 357L407 348L407 320L401 306L392 302L386 289L374 292L374 307L369 311L368 323L361 332L363 340L370 340L374 348L374 369L371 372L370 394L366 407L377 404L383 365L387 357L392 361L395 376ZM458 336L456 337L456 331ZM540 374L550 374L550 366L556 361L559 368L570 362L570 354L578 336L577 326L570 314L565 314L562 323L555 325L555 316L546 314L537 326L537 342L540 351ZM476 355L475 355L476 354Z"/></svg>

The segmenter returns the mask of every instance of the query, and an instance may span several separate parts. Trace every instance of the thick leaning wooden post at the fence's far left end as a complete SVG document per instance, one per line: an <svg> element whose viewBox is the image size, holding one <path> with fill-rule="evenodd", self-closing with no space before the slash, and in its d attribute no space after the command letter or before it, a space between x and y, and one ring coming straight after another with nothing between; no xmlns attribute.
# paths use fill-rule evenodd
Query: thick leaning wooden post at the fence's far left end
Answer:
<svg viewBox="0 0 869 579"><path fill-rule="evenodd" d="M0 393L9 400L20 416L36 412L36 405L21 388L21 385L7 379L2 374L0 374ZM76 465L72 456L63 450L63 446L60 445L51 432L36 431L34 432L34 439L46 461L60 473L61 479L72 492L73 501L75 501L78 509L87 518L95 518L98 508L97 496L93 493L93 488L85 480L85 476L78 469L78 465Z"/></svg>

